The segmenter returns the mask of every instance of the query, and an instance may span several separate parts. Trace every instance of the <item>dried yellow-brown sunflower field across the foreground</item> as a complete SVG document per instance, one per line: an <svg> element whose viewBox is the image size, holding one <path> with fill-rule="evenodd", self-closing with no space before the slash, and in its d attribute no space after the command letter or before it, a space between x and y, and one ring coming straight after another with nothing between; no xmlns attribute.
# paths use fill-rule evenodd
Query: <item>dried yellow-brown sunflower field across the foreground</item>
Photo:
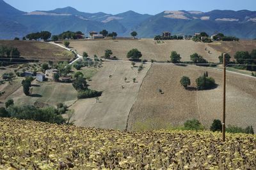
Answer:
<svg viewBox="0 0 256 170"><path fill-rule="evenodd" d="M256 136L124 132L0 118L0 169L255 169Z"/></svg>

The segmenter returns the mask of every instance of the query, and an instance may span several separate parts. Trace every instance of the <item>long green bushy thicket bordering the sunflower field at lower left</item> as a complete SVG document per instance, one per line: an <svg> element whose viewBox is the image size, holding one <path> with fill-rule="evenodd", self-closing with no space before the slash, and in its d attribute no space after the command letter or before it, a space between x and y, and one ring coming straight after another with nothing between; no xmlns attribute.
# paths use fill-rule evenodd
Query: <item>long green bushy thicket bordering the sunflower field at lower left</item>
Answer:
<svg viewBox="0 0 256 170"><path fill-rule="evenodd" d="M15 106L12 99L6 101L5 106L6 108L0 108L0 117L35 120L52 124L66 123L65 118L61 117L58 110L52 106L47 108L36 108L32 105Z"/></svg>

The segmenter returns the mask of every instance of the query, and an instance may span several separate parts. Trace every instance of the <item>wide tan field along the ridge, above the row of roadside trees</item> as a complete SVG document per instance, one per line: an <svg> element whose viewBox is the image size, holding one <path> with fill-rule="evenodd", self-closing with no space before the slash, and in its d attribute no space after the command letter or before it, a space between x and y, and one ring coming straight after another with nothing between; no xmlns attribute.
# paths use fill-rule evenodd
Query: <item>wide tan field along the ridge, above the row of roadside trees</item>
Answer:
<svg viewBox="0 0 256 170"><path fill-rule="evenodd" d="M180 53L183 61L190 60L190 55L199 53L210 62L218 62L218 52L211 48L207 43L195 43L188 40L166 40L164 43L157 44L153 39L100 39L100 40L74 40L70 41L72 46L79 54L87 52L88 55L97 55L101 57L105 50L110 49L113 56L118 59L127 60L127 52L132 48L138 48L141 51L141 59L151 59L157 61L170 60L170 53L176 51ZM205 50L207 48L207 50ZM208 52L210 51L210 53Z"/></svg>

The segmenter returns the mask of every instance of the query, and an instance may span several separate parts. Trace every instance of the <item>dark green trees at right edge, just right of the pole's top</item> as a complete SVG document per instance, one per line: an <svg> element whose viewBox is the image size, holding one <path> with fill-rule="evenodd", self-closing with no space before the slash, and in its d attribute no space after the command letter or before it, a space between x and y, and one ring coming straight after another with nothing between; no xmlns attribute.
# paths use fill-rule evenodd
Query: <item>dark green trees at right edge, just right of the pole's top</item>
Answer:
<svg viewBox="0 0 256 170"><path fill-rule="evenodd" d="M256 49L252 50L251 53L244 51L236 52L234 58L236 59L236 64L241 64L239 66L241 69L256 71Z"/></svg>

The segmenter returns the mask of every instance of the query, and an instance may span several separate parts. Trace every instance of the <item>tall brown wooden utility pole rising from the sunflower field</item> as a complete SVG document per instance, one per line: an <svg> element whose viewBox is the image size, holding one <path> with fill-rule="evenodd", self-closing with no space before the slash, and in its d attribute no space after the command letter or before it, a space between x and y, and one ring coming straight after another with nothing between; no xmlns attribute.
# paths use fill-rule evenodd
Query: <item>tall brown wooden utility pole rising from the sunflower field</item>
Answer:
<svg viewBox="0 0 256 170"><path fill-rule="evenodd" d="M225 141L226 131L226 53L223 53L223 117L222 117L222 139Z"/></svg>

